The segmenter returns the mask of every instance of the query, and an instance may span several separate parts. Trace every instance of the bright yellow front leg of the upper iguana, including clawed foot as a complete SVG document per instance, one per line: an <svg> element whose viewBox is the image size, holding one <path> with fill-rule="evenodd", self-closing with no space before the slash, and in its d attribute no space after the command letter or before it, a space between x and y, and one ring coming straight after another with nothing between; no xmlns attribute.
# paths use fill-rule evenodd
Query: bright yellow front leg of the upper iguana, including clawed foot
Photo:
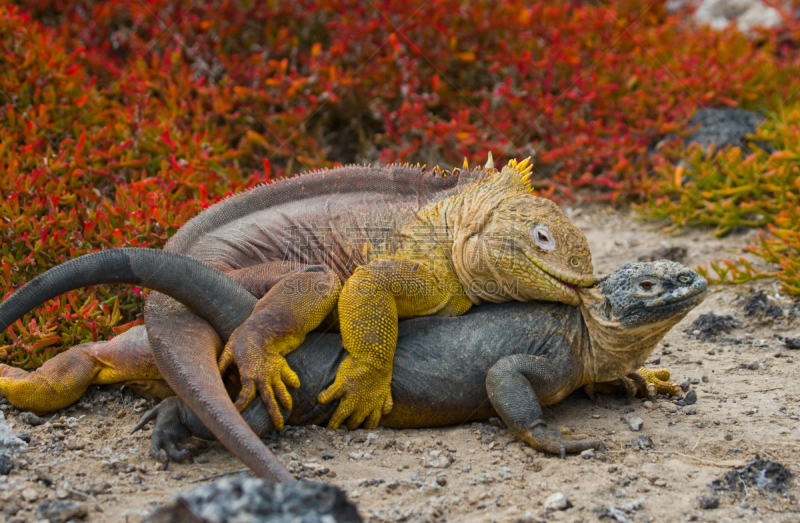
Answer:
<svg viewBox="0 0 800 523"><path fill-rule="evenodd" d="M399 319L430 314L457 316L472 302L458 280L441 282L433 272L407 260L380 259L359 267L339 298L342 343L348 356L320 403L341 399L328 423L336 429L347 420L355 429L366 420L378 426L392 410L392 362Z"/></svg>

